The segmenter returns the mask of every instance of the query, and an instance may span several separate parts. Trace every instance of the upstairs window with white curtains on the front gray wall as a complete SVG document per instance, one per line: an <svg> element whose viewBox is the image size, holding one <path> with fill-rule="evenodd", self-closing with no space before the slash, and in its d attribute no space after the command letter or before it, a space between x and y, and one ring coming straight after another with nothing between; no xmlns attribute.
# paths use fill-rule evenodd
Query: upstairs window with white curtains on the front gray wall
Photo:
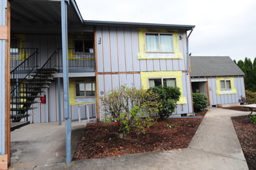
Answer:
<svg viewBox="0 0 256 170"><path fill-rule="evenodd" d="M173 52L172 34L146 33L146 52Z"/></svg>

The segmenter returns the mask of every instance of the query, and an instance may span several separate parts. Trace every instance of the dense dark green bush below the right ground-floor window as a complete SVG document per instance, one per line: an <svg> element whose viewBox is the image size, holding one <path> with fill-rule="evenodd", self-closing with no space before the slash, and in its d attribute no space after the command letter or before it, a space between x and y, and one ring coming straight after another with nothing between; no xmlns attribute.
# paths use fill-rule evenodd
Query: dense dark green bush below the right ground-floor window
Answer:
<svg viewBox="0 0 256 170"><path fill-rule="evenodd" d="M151 87L148 92L157 93L157 101L159 102L159 117L160 119L166 119L174 112L181 92L179 87Z"/></svg>

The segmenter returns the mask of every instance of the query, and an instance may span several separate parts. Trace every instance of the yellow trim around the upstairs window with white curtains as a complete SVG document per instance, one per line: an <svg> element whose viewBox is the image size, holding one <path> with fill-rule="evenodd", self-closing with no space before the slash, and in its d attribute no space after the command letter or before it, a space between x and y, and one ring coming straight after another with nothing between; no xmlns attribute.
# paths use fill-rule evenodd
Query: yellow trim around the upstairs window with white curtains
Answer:
<svg viewBox="0 0 256 170"><path fill-rule="evenodd" d="M172 34L173 38L173 50L174 50L174 57L147 57L146 53L152 53L152 52L146 52L145 51L145 32L168 32ZM138 53L138 59L183 59L183 53L180 53L179 51L179 34L176 31L170 32L168 29L138 29L138 42L139 42L139 53ZM161 52L157 52L161 53ZM173 52L170 52L173 53Z"/></svg>

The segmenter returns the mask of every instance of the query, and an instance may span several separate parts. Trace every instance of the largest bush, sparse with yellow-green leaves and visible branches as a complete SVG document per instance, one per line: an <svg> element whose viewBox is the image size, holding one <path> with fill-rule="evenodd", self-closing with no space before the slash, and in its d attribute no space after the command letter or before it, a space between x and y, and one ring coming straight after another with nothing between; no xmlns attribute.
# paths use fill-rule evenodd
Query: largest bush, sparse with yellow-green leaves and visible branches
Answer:
<svg viewBox="0 0 256 170"><path fill-rule="evenodd" d="M101 97L104 119L115 122L120 137L125 137L131 128L139 133L145 131L155 123L149 116L158 112L159 103L155 100L157 94L147 90L137 90L135 87L122 86L118 90Z"/></svg>

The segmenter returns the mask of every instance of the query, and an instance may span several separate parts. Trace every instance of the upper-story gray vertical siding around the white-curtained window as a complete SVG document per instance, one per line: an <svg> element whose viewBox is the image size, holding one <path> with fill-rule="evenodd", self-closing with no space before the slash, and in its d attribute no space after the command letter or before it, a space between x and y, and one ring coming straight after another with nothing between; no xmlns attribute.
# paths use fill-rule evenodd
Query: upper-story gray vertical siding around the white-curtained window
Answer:
<svg viewBox="0 0 256 170"><path fill-rule="evenodd" d="M98 72L183 71L186 70L186 32L179 32L183 59L138 59L138 29L97 26Z"/></svg>

